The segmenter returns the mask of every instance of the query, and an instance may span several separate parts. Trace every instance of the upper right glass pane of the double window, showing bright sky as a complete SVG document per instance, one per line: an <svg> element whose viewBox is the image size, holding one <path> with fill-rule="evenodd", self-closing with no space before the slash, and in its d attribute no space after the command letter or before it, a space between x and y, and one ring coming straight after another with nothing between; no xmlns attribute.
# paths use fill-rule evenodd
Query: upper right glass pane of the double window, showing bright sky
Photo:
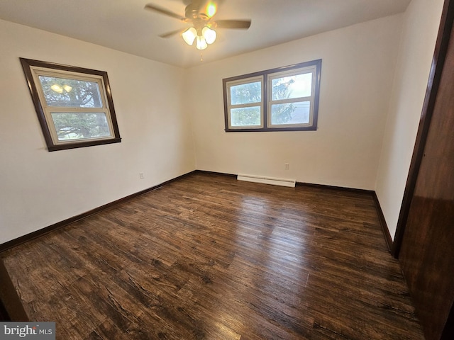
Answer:
<svg viewBox="0 0 454 340"><path fill-rule="evenodd" d="M305 73L272 79L271 86L273 101L309 97L312 91L312 74Z"/></svg>

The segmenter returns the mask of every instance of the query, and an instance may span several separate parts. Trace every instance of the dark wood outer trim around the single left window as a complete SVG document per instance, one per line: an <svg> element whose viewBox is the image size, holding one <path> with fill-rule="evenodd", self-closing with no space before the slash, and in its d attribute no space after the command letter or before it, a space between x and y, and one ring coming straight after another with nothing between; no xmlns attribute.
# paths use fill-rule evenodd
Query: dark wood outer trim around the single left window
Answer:
<svg viewBox="0 0 454 340"><path fill-rule="evenodd" d="M49 151L57 151L63 149L74 149L77 147L92 147L94 145L104 145L111 143L121 142L120 132L118 130L118 123L116 120L114 101L112 100L111 87L109 84L109 79L107 77L107 72L96 71L94 69L86 69L83 67L74 67L63 64L54 64L52 62L43 62L38 60L30 60L25 58L19 58L21 60L23 72L26 76L28 89L31 93L31 98L33 100L33 105L35 106L35 111L38 115L38 120L43 130L44 139ZM74 140L71 142L65 142L61 144L56 144L52 140L52 135L48 126L48 121L45 117L45 112L43 105L40 102L40 96L38 95L38 89L33 79L32 68L31 67L43 67L45 69L57 70L63 72L75 72L77 74L88 74L102 77L104 90L106 94L106 106L109 108L109 115L111 119L111 128L112 128L112 137L96 140Z"/></svg>

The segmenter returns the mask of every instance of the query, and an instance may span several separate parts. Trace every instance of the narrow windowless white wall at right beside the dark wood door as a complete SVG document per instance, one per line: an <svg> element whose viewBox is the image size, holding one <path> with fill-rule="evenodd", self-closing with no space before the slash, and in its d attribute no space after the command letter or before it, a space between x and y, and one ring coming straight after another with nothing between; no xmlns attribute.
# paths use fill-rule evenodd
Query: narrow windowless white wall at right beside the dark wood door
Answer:
<svg viewBox="0 0 454 340"><path fill-rule="evenodd" d="M443 0L413 0L404 13L402 42L375 189L393 239L442 8Z"/></svg>

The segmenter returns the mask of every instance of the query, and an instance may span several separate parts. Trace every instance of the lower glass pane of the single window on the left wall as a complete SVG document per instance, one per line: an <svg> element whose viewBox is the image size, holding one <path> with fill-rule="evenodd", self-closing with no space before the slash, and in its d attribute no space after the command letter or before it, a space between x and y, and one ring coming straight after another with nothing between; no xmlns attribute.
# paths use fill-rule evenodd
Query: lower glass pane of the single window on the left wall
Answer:
<svg viewBox="0 0 454 340"><path fill-rule="evenodd" d="M58 140L109 137L111 132L104 112L52 112Z"/></svg>

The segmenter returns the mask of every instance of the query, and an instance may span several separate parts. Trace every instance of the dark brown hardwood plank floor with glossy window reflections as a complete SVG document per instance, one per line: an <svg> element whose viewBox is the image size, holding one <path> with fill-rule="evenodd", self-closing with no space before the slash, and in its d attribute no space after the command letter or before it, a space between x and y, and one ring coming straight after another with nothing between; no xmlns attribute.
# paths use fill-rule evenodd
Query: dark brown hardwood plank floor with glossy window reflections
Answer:
<svg viewBox="0 0 454 340"><path fill-rule="evenodd" d="M423 339L365 193L195 173L1 256L57 339Z"/></svg>

